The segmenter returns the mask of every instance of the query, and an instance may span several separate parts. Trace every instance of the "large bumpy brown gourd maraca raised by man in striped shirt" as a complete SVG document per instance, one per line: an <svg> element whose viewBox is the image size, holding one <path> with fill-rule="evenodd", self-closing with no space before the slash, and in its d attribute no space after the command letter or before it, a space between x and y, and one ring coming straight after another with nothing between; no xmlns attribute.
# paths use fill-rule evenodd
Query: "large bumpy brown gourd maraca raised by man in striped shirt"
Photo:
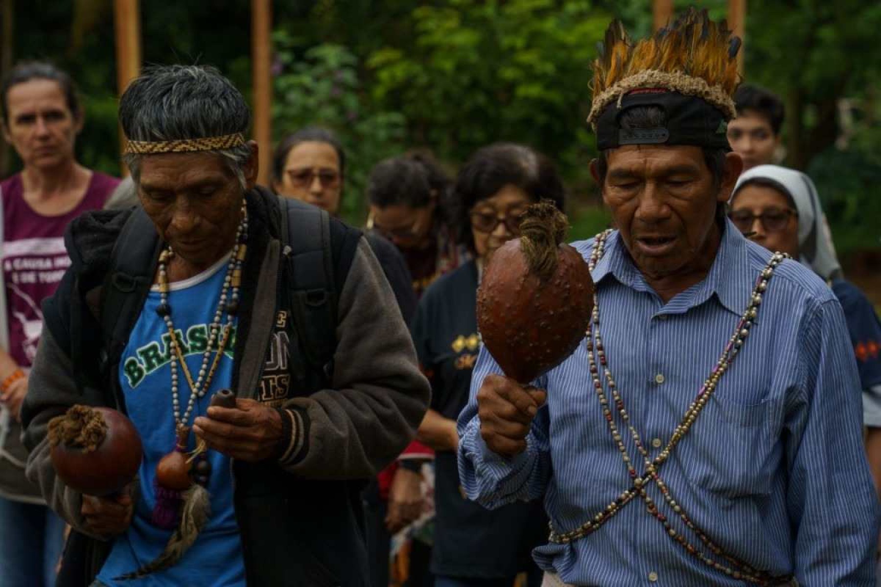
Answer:
<svg viewBox="0 0 881 587"><path fill-rule="evenodd" d="M588 264L566 245L566 216L551 202L529 206L522 236L492 254L478 289L478 328L486 349L521 385L574 352L593 311Z"/></svg>

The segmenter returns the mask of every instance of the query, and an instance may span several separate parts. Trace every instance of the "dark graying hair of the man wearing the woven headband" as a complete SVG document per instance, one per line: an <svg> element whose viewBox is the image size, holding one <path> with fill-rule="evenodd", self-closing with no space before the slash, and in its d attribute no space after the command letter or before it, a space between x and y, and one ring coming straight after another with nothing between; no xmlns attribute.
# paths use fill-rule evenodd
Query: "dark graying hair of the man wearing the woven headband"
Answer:
<svg viewBox="0 0 881 587"><path fill-rule="evenodd" d="M145 68L122 94L119 121L130 141L177 141L246 133L251 114L241 92L216 68L156 65ZM205 152L222 157L246 186L243 167L250 146ZM122 158L136 183L144 157L149 155L126 153Z"/></svg>

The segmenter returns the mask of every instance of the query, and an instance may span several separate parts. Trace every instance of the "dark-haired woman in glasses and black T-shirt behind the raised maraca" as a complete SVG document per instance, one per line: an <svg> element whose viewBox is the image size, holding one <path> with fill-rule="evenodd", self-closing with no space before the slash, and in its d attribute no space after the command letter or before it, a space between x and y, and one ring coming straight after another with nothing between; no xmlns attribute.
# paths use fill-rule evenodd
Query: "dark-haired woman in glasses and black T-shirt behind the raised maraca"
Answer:
<svg viewBox="0 0 881 587"><path fill-rule="evenodd" d="M514 143L478 150L453 191L459 238L474 259L434 282L413 319L419 362L432 384L431 408L418 437L435 451L432 572L438 587L510 587L522 570L530 571L530 585L541 581L529 551L547 535L542 503L485 510L465 499L455 420L468 402L480 345L475 314L480 275L492 253L519 236L520 216L529 204L544 199L563 209L563 183L547 158Z"/></svg>

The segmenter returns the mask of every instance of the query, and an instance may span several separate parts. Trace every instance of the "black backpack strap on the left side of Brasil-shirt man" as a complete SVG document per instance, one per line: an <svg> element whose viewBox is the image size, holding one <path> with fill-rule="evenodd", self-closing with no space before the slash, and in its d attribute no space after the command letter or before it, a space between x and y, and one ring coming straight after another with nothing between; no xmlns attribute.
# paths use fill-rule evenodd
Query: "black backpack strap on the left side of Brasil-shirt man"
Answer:
<svg viewBox="0 0 881 587"><path fill-rule="evenodd" d="M137 207L122 226L113 248L110 267L101 290L100 371L114 364L129 341L144 298L153 280L154 260L159 256L161 239L150 216Z"/></svg>

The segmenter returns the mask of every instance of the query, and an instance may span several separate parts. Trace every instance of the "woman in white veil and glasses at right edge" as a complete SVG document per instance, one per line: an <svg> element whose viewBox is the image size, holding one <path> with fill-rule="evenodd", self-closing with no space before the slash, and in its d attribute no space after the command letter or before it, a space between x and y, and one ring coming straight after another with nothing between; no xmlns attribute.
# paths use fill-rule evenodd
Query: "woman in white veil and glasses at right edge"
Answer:
<svg viewBox="0 0 881 587"><path fill-rule="evenodd" d="M869 300L841 277L817 190L802 172L759 165L737 180L729 218L771 251L789 253L829 283L844 310L862 384L866 450L881 489L881 322Z"/></svg>

